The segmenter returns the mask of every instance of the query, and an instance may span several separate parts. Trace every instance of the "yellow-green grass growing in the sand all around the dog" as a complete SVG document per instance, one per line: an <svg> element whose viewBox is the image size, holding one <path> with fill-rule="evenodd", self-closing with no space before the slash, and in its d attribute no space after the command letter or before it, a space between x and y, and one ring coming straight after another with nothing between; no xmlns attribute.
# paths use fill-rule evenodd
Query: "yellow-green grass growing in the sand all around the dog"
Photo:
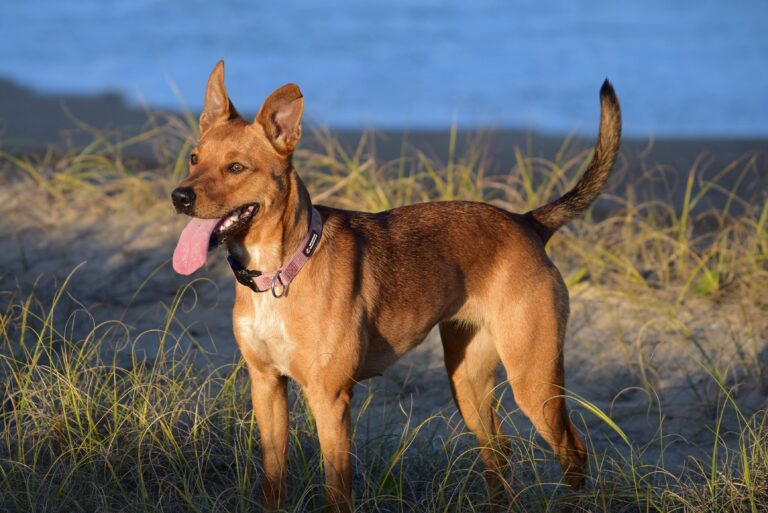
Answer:
<svg viewBox="0 0 768 513"><path fill-rule="evenodd" d="M87 203L164 219L167 191L185 172L189 126L151 119L130 140L94 132L84 149L5 153L0 166L6 183L42 195L52 211ZM492 175L482 141L459 154L455 130L444 161L404 147L401 158L381 162L371 152L374 134L363 134L352 149L328 132L315 137L315 149L296 156L315 200L363 210L471 199L522 211L571 187L589 158L566 139L552 160L518 150L513 169ZM151 164L126 156L134 144L151 145ZM768 204L765 191L745 199L736 186L722 186L726 178L738 185L759 172L754 158L706 181L699 164L691 164L681 201L638 199L640 187L630 182L605 195L607 213L591 211L552 240L550 253L573 292L575 324L581 303L617 303L616 319L598 332L604 339L587 340L594 332L578 327L569 335L579 348L574 354L585 354L573 365L589 364L611 392L564 392L590 449L589 485L570 492L559 484L552 454L499 387L513 446L506 476L515 493L511 511L768 510L761 320L768 309ZM643 177L666 178L659 169ZM713 196L718 207L704 208ZM260 450L247 374L237 359L200 365L181 315L205 283L156 298L163 314L139 330L124 316L101 318L78 301L82 272L73 269L56 287L45 279L0 280L0 511L259 511ZM133 300L146 295L142 289L156 272L124 294L126 305L136 308ZM729 328L712 336L712 323ZM680 452L675 446L693 440L668 431L680 407L670 403L670 380L704 412L706 432L677 465L667 461ZM359 511L483 509L488 499L474 439L455 409L417 411L418 394L408 400L414 382L404 378L394 394L376 383L358 393ZM639 414L652 435L640 439L630 429L627 412L638 412L622 410L626 397L647 399ZM295 389L290 404L289 508L318 510L323 490L313 419Z"/></svg>

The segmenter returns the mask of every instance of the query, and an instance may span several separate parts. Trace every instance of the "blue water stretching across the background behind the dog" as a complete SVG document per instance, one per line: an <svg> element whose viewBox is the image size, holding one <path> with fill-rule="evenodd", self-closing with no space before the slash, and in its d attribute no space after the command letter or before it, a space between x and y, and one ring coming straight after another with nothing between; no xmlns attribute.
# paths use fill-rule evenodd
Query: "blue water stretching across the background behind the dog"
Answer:
<svg viewBox="0 0 768 513"><path fill-rule="evenodd" d="M609 77L627 133L768 135L765 0L2 0L0 38L2 76L160 107L224 58L239 110L293 81L335 127L591 132Z"/></svg>

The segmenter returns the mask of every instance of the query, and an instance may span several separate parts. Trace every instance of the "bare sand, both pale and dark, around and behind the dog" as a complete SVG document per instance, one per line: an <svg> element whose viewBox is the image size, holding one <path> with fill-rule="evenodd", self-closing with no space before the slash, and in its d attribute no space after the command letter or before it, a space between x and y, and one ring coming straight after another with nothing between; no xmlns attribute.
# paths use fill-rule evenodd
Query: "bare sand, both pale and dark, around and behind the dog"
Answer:
<svg viewBox="0 0 768 513"><path fill-rule="evenodd" d="M61 144L61 134L73 127L71 119L62 113L62 104L99 128L131 130L146 119L144 113L126 107L115 96L48 97L0 82L0 124L5 127L0 139L5 141L4 148L16 153L36 152L50 144ZM359 132L337 135L345 144L352 144L360 136ZM399 155L404 137L404 132L378 134L377 153L383 159ZM447 155L446 132L410 132L407 141L425 152ZM501 173L512 166L516 145L551 158L561 142L562 137L495 131L489 135L488 157L494 172ZM588 146L580 140L574 144ZM633 170L642 171L643 166L662 162L687 170L702 153L711 155L713 170L736 159L754 158L757 180L745 193L754 193L755 187L765 190L768 144L764 140L662 140L652 145L628 140L622 147L622 167L626 174L632 174ZM679 173L675 176L681 179ZM94 316L93 323L123 319L134 334L164 324L163 305L170 305L177 290L192 282L173 273L170 266L175 241L185 222L174 215L170 205L139 212L107 200L93 203L82 199L48 206L45 192L28 181L0 180L0 290L18 287L29 291L36 287L44 297L73 268L85 262L68 286L77 302L65 298L60 315L69 315L81 303ZM614 187L620 191L621 183ZM652 194L653 190L645 192ZM149 276L151 279L135 295ZM172 331L195 352L201 364L235 361L238 353L230 324L232 277L223 253L212 255L206 269L194 279L197 300L187 295L178 315L181 324L174 325ZM657 463L662 446L664 465L670 469L683 468L688 457L711 450L713 435L709 426L717 413L716 389L692 358L697 349L670 317L666 293L659 291L663 301L630 301L622 291L589 286L576 287L571 294L572 319L566 348L568 388L610 412L630 440L645 448L644 458L649 462ZM765 338L754 340L755 333L766 333L766 320L751 305L737 299L725 304L702 299L686 303L674 315L693 327L701 346L718 361L732 362L737 368L739 357L723 354L721 342L753 337L745 340L745 347L752 348L748 352L763 368L768 366ZM182 333L181 325L189 326L190 331ZM152 333L142 336L137 349L151 356L157 338ZM358 397L365 396L366 387L380 391L371 413L361 422L375 422L377 408L401 403L405 411L413 411L417 422L442 411L453 420L439 429L460 429L441 360L442 348L433 333L391 371L361 385ZM765 377L736 372L732 379L737 378L744 383L738 389L738 400L745 412L765 408ZM653 388L644 383L651 383ZM514 411L509 389L502 388L500 393L504 405ZM598 448L623 443L584 408L575 407L574 416ZM511 416L511 422L522 433L530 430L519 413ZM665 436L660 439L662 427ZM735 429L736 419L726 416L725 428Z"/></svg>

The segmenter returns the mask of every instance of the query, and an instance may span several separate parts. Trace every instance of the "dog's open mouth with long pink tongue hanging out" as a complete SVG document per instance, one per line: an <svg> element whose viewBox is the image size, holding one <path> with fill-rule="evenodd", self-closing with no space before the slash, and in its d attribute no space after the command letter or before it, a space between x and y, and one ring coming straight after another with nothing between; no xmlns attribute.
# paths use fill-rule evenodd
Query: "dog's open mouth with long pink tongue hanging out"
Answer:
<svg viewBox="0 0 768 513"><path fill-rule="evenodd" d="M192 218L173 252L173 269L184 275L200 269L208 258L208 251L247 227L258 209L257 204L243 205L218 219Z"/></svg>

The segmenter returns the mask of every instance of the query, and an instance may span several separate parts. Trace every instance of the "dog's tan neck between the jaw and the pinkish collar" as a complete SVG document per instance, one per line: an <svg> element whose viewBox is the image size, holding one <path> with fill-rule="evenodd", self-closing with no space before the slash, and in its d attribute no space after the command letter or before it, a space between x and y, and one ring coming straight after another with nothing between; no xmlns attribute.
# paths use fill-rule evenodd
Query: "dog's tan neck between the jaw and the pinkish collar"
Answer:
<svg viewBox="0 0 768 513"><path fill-rule="evenodd" d="M262 205L248 231L228 242L230 254L243 267L275 271L299 249L309 229L312 201L293 167L286 172L284 193L272 205Z"/></svg>

